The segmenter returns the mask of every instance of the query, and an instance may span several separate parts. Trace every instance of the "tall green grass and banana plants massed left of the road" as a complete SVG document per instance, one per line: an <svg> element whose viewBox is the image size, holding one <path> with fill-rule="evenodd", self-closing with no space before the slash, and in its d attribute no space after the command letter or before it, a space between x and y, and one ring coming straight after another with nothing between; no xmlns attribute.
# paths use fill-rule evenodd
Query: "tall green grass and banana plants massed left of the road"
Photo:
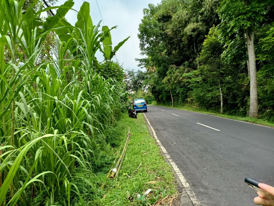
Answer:
<svg viewBox="0 0 274 206"><path fill-rule="evenodd" d="M93 25L87 2L75 26L73 0L45 20L48 8L24 2L0 0L0 204L85 205L100 194L124 105L122 68L95 59L111 30Z"/></svg>

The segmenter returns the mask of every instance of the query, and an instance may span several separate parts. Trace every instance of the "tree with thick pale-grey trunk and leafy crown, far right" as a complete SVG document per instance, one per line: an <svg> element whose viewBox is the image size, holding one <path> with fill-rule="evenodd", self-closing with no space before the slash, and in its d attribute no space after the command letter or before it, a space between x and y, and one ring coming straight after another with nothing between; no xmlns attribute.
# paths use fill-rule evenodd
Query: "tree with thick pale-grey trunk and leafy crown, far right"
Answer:
<svg viewBox="0 0 274 206"><path fill-rule="evenodd" d="M220 16L222 35L241 36L246 38L250 70L250 117L259 117L257 69L255 63L254 38L258 24L269 11L269 1L260 0L223 0L217 12Z"/></svg>

